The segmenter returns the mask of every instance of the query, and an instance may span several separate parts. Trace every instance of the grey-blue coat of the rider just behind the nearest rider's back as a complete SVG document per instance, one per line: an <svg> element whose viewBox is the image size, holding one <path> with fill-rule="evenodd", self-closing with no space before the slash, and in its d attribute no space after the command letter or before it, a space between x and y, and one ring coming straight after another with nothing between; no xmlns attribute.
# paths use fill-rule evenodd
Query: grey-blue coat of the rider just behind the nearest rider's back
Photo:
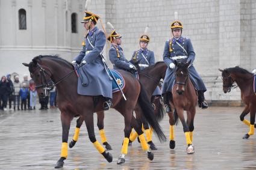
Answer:
<svg viewBox="0 0 256 170"><path fill-rule="evenodd" d="M125 58L122 47L111 44L109 57L114 66L114 70L131 70L131 63Z"/></svg>

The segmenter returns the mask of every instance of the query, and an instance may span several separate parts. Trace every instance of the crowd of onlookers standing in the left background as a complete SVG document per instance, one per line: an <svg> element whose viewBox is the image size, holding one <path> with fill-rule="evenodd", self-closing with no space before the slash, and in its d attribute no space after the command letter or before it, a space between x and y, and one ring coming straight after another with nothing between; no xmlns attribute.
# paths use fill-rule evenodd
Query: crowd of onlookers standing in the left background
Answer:
<svg viewBox="0 0 256 170"><path fill-rule="evenodd" d="M39 98L39 103L41 107L40 110L48 109L48 104L50 103L50 108L56 108L56 96L57 91L55 88L50 91L50 101L49 97L43 99ZM0 111L20 111L20 110L33 110L36 109L37 103L37 91L34 80L28 80L28 76L23 76L23 81L20 82L19 76L14 76L11 80L11 74L7 76L2 76L0 81ZM8 105L8 106L7 106Z"/></svg>

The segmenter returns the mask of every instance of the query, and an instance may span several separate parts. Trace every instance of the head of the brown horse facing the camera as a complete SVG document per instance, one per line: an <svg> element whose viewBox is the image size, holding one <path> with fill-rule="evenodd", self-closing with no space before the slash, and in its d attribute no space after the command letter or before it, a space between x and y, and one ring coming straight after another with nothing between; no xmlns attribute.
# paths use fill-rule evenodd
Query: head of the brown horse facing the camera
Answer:
<svg viewBox="0 0 256 170"><path fill-rule="evenodd" d="M179 95L183 94L186 90L187 81L189 79L189 65L190 62L178 62L174 60L176 66L175 70L175 85L176 93Z"/></svg>

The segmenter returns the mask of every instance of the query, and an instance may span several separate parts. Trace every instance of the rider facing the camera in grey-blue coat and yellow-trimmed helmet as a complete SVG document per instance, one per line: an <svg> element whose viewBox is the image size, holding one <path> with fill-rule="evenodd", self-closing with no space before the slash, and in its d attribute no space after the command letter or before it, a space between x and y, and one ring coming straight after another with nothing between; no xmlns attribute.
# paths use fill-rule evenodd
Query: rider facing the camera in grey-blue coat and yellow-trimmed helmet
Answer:
<svg viewBox="0 0 256 170"><path fill-rule="evenodd" d="M198 105L202 109L208 108L207 102L204 99L204 92L206 91L204 82L199 74L193 67L193 61L195 60L195 52L193 50L192 43L189 38L182 37L183 25L180 21L175 20L171 23L173 38L166 41L164 46L163 59L167 65L166 76L164 78L162 94L164 97L164 105L166 106L166 112L172 112L169 105L169 100L172 100L172 85L175 80L175 64L173 60L180 62L189 62L189 77L192 79L196 90L198 91Z"/></svg>

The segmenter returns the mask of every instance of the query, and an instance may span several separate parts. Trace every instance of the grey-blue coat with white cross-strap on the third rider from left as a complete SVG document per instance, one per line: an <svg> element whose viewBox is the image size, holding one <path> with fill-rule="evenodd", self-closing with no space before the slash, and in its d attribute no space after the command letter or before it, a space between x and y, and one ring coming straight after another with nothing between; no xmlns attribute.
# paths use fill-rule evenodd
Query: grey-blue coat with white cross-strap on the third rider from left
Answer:
<svg viewBox="0 0 256 170"><path fill-rule="evenodd" d="M136 62L140 66L140 70L144 70L146 67L155 64L155 55L151 50L139 49L133 52L133 56L131 57L133 62ZM155 88L152 96L160 96L161 90L159 87Z"/></svg>

